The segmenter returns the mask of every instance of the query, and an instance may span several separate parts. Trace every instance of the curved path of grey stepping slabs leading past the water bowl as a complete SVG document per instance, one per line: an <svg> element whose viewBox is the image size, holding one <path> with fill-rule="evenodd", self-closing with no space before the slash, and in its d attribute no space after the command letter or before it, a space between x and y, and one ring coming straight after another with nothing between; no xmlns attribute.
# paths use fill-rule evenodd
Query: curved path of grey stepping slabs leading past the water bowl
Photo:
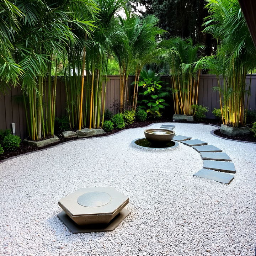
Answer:
<svg viewBox="0 0 256 256"><path fill-rule="evenodd" d="M173 130L175 126L163 124L160 128ZM200 139L192 139L183 135L176 135L173 140L190 146L201 153L201 158L204 160L203 168L193 176L208 178L225 184L229 184L234 179L235 176L228 173L234 174L236 172L235 165L231 162L231 158L222 152L222 149L214 145L208 145L207 142Z"/></svg>

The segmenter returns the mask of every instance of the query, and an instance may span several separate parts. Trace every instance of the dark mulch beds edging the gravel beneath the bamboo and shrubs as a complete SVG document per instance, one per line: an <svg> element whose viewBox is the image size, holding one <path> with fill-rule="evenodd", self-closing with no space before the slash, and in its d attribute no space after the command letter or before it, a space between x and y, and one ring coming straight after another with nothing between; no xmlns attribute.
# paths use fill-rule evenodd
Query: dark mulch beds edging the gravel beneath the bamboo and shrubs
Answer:
<svg viewBox="0 0 256 256"><path fill-rule="evenodd" d="M154 120L149 120L149 121L146 121L146 122L137 122L135 121L134 123L130 124L129 126L126 126L125 129L129 129L129 128L136 128L136 127L144 127L144 126L148 126L149 124L151 123L164 123L164 122L173 122L171 119L154 119ZM184 123L187 123L187 122L184 122ZM204 121L197 121L197 122L194 122L194 123L202 123L202 124L215 124L217 126L220 126L221 123L218 121L218 120L215 120L215 119L206 119ZM100 135L95 135L93 137L102 137L102 136L108 136L108 135L111 135L111 134L114 134L114 133L117 133L119 131L121 131L122 129L114 129L112 130L111 132L108 132L108 133L105 133L105 134L100 134ZM219 132L219 130L215 131L214 132L216 135L220 136L220 137L223 137L223 138L232 138L232 139L235 139L235 140L242 140L242 141L249 141L249 142L256 142L256 138L252 136L252 134L250 135L244 135L244 136L235 136L235 137L229 137L229 136L226 136L222 133ZM42 147L40 149L43 149L43 148L48 148L49 146L53 146L53 145L57 145L59 143L62 143L62 142L67 142L69 140L76 140L77 138L70 138L70 139L65 139L62 137L61 134L57 134L57 136L60 138L60 141L59 142L56 142L54 144L51 144L51 145L48 145L48 146L45 146L45 147ZM91 137L87 137L87 138L91 138ZM21 154L25 154L25 153L28 153L28 152L32 152L32 151L36 151L38 150L37 147L34 147L34 146L31 146L31 145L27 145L25 143L21 143L20 145L20 148L16 151L13 151L13 152L5 152L3 155L0 156L0 160L4 160L4 159L7 159L7 158L10 158L12 156L17 156L17 155L21 155Z"/></svg>

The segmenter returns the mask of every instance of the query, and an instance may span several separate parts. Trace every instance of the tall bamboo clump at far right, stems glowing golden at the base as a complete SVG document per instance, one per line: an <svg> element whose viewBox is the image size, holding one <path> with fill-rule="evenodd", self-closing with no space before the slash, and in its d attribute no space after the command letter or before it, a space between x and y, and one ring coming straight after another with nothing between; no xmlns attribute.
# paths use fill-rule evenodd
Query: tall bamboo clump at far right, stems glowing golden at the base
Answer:
<svg viewBox="0 0 256 256"><path fill-rule="evenodd" d="M207 0L209 16L205 32L218 40L217 55L209 57L206 68L218 77L223 124L240 127L246 123L251 79L246 75L256 65L256 49L246 26L238 0ZM223 79L223 85L222 80Z"/></svg>

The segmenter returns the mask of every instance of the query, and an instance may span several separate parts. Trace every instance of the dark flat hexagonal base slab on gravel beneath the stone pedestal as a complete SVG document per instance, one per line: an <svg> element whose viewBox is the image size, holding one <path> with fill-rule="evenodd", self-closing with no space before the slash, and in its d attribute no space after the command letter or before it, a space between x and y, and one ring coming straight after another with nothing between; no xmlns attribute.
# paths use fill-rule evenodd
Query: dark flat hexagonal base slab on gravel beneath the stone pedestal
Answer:
<svg viewBox="0 0 256 256"><path fill-rule="evenodd" d="M130 211L127 209L121 210L121 212L111 220L108 224L93 224L80 226L76 224L69 216L64 212L60 212L57 217L63 222L63 224L70 230L73 234L78 233L90 233L90 232L106 232L114 230L121 222L124 220Z"/></svg>

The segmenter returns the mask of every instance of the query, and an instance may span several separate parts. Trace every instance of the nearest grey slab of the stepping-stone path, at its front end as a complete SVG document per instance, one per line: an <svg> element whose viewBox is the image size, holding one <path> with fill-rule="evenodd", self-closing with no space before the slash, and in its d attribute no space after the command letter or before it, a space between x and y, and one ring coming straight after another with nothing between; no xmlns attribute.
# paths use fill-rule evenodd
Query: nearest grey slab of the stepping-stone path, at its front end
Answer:
<svg viewBox="0 0 256 256"><path fill-rule="evenodd" d="M234 175L204 168L195 173L193 176L208 178L209 180L214 180L225 184L229 184L234 178Z"/></svg>

